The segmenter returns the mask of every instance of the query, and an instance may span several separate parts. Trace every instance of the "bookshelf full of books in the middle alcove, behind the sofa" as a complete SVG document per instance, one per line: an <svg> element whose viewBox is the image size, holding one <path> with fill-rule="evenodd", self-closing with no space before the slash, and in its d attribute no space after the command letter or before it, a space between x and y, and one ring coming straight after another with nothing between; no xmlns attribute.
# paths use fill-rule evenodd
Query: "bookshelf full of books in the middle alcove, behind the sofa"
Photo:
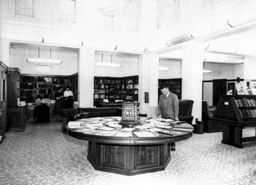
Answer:
<svg viewBox="0 0 256 185"><path fill-rule="evenodd" d="M139 77L94 77L94 105L109 97L111 87L114 87L113 94L119 100L138 101Z"/></svg>

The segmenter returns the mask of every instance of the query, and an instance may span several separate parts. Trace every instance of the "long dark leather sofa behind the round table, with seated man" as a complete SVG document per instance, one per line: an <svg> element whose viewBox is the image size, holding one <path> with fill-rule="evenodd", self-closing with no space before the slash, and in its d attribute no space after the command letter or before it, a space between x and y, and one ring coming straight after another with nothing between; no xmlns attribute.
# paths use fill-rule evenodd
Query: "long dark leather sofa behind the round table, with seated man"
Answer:
<svg viewBox="0 0 256 185"><path fill-rule="evenodd" d="M93 117L108 117L108 116L122 116L122 108L110 107L110 108L80 108L82 112L88 112L88 118ZM62 109L62 126L61 130L66 133L66 125L71 120L71 114L69 109Z"/></svg>

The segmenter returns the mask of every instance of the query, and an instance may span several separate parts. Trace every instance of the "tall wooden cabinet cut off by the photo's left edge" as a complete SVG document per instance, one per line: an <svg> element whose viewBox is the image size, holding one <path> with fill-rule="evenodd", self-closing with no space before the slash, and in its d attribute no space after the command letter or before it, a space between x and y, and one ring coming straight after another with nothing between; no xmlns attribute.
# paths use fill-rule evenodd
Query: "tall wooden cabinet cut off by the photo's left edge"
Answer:
<svg viewBox="0 0 256 185"><path fill-rule="evenodd" d="M6 112L7 112L7 66L0 61L0 144L4 141L6 132Z"/></svg>

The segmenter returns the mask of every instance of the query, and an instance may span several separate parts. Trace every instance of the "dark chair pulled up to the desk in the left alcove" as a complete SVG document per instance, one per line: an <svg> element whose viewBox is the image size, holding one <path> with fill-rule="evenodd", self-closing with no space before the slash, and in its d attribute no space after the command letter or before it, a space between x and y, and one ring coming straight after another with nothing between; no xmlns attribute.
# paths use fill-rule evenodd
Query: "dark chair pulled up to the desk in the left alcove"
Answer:
<svg viewBox="0 0 256 185"><path fill-rule="evenodd" d="M50 108L48 105L42 103L40 98L36 99L37 106L34 108L34 123L38 123L39 121L46 121L49 123L50 121Z"/></svg>

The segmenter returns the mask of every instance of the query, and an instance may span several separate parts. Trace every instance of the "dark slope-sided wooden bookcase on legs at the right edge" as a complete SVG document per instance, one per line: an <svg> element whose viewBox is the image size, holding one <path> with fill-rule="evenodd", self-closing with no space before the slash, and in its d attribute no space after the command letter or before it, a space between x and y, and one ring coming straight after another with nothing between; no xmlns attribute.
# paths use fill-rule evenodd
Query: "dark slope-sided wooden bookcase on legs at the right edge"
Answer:
<svg viewBox="0 0 256 185"><path fill-rule="evenodd" d="M223 124L222 143L242 148L242 142L256 140L256 136L242 138L244 127L256 128L256 95L221 96L214 119Z"/></svg>

